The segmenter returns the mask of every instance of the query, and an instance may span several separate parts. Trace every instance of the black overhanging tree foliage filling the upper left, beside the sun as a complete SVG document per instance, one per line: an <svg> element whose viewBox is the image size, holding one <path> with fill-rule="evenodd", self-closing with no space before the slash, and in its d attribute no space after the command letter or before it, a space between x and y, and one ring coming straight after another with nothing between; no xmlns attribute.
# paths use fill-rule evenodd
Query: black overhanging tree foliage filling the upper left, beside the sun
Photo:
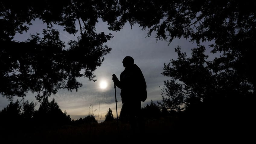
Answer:
<svg viewBox="0 0 256 144"><path fill-rule="evenodd" d="M0 3L0 93L3 96L25 97L31 91L41 101L62 88L77 91L82 83L76 78L96 80L93 72L101 66L103 56L110 53L111 48L104 43L112 35L96 33L95 24L101 18L110 28L115 27L112 23L119 13L114 0ZM27 32L35 19L47 24L43 37L33 34L27 41L15 41L15 34ZM64 43L53 25L75 35L76 22L78 40Z"/></svg>

